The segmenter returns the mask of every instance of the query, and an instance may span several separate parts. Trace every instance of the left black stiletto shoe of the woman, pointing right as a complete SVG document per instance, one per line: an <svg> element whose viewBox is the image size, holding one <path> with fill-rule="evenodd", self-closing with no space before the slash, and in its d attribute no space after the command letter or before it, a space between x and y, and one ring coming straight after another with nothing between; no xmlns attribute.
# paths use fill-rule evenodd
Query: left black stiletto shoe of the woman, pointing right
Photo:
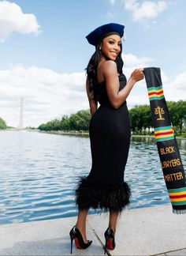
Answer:
<svg viewBox="0 0 186 256"><path fill-rule="evenodd" d="M87 243L84 243L84 239L76 226L74 226L71 231L69 232L70 239L71 239L71 250L70 253L73 253L73 239L75 240L76 247L78 249L87 249L92 243L92 241L87 240Z"/></svg>

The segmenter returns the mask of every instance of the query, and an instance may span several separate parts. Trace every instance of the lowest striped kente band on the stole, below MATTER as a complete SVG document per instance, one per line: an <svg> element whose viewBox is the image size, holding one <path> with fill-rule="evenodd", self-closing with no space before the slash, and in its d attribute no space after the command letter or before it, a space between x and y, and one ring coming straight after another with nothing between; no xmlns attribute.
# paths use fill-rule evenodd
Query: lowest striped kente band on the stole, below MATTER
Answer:
<svg viewBox="0 0 186 256"><path fill-rule="evenodd" d="M168 192L169 192L170 201L173 205L186 204L186 187L168 190Z"/></svg>

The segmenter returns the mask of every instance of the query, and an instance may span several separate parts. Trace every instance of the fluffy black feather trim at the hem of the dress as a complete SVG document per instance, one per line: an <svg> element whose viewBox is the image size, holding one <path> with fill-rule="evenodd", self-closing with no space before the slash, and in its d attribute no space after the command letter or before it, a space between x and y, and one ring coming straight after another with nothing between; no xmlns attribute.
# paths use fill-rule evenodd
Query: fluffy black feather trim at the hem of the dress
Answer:
<svg viewBox="0 0 186 256"><path fill-rule="evenodd" d="M80 177L76 190L76 205L79 209L101 209L120 212L129 204L131 191L127 183L93 183L86 177Z"/></svg>

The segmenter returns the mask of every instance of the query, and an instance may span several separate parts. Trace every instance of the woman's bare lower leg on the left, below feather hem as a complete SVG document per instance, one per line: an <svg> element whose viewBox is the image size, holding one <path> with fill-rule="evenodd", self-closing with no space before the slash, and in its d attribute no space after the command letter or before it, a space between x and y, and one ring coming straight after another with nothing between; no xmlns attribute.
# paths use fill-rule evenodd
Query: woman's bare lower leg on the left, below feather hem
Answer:
<svg viewBox="0 0 186 256"><path fill-rule="evenodd" d="M76 228L79 229L81 235L83 236L84 243L87 243L87 236L86 236L87 213L88 213L88 209L79 209L77 222L76 222Z"/></svg>

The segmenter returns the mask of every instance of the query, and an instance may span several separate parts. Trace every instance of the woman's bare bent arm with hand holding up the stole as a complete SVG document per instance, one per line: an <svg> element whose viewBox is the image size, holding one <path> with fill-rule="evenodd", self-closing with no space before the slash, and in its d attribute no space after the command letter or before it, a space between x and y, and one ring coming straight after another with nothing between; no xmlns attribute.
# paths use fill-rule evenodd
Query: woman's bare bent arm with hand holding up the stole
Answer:
<svg viewBox="0 0 186 256"><path fill-rule="evenodd" d="M106 81L106 92L110 104L116 109L125 102L136 81L142 80L144 77L143 69L134 70L125 88L119 90L120 84L117 76L116 62L109 60L102 63L102 74Z"/></svg>

